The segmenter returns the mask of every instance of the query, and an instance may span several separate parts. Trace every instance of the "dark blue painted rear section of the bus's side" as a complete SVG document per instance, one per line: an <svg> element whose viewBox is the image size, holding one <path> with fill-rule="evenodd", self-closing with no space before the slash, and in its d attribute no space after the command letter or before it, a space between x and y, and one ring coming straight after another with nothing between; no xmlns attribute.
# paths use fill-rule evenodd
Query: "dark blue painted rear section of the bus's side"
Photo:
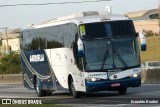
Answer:
<svg viewBox="0 0 160 107"><path fill-rule="evenodd" d="M30 57L32 57L32 55L44 55L44 61L35 61L32 60L30 62ZM45 53L44 50L37 50L37 51L28 51L28 52L24 52L24 56L26 57L27 61L29 62L30 66L40 75L42 76L50 76L52 73L52 69L51 69L51 66L50 66L50 63L48 61L48 57ZM31 82L32 84L34 84L34 81L33 81L33 76L36 75L36 74L33 74L30 69L28 68L28 66L26 65L27 63L23 60L22 56L21 56L21 62L22 62L22 69L23 69L23 74L26 74L30 79L32 79L32 81L26 81L24 80L24 86L26 88L29 88L29 89L34 89L33 87L30 87L30 85L28 84L28 82ZM60 83L58 81L54 81L54 80L57 80L55 74L54 74L54 71L53 71L53 78L52 76L50 76L48 79L43 79L43 78L40 78L40 79L43 79L43 82L41 82L41 84L43 84L42 87L44 90L66 90L65 88L63 88ZM38 77L39 78L39 77ZM50 80L50 81L48 81ZM55 82L56 84L56 87L53 87L53 82Z"/></svg>

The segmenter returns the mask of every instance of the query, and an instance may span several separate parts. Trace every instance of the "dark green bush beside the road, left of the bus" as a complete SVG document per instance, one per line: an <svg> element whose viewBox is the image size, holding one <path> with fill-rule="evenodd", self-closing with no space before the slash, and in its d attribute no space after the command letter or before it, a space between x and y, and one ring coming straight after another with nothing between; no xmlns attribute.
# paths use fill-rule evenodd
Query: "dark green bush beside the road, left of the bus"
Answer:
<svg viewBox="0 0 160 107"><path fill-rule="evenodd" d="M10 52L0 59L0 74L21 73L20 55Z"/></svg>

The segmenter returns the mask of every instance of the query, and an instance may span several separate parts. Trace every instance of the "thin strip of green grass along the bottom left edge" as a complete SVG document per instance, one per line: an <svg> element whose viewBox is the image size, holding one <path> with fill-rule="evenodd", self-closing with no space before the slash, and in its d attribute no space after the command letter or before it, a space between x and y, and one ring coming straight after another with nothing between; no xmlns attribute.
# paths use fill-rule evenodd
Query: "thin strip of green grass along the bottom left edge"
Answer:
<svg viewBox="0 0 160 107"><path fill-rule="evenodd" d="M41 104L41 105L39 105L39 104L35 104L35 105L33 105L33 104L30 104L30 105L21 105L21 104L13 104L13 105L8 105L8 104L6 104L6 105L1 105L0 104L0 107L72 107L72 106L66 106L66 105L55 105L55 104Z"/></svg>

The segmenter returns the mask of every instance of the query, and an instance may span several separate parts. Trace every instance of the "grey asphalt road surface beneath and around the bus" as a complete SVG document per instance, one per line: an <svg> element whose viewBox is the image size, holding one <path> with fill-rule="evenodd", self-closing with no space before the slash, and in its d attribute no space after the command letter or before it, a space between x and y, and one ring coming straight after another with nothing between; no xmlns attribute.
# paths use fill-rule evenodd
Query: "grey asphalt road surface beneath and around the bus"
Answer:
<svg viewBox="0 0 160 107"><path fill-rule="evenodd" d="M41 100L43 104L56 103L79 107L134 107L135 105L137 107L160 107L160 84L142 84L141 87L128 88L126 95L119 95L118 92L104 91L83 94L82 98L79 99L74 99L66 91L53 92L52 96L40 98L36 96L34 90L28 90L22 85L0 85L0 100L6 98ZM140 102L137 103L137 101Z"/></svg>

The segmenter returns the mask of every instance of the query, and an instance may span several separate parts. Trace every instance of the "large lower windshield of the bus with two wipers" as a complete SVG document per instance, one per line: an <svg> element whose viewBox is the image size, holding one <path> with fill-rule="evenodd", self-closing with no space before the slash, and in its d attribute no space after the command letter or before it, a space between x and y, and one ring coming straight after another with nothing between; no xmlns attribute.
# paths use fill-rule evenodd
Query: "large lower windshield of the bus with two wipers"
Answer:
<svg viewBox="0 0 160 107"><path fill-rule="evenodd" d="M84 41L86 71L131 68L140 65L136 38Z"/></svg>

